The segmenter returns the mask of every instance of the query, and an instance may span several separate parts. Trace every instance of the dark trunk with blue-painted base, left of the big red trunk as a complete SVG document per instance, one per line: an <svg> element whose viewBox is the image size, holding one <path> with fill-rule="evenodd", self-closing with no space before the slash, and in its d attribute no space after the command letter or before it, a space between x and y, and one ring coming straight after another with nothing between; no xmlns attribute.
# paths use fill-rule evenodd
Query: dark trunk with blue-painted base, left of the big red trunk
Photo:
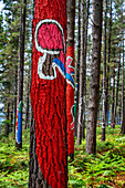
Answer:
<svg viewBox="0 0 125 188"><path fill-rule="evenodd" d="M24 66L24 34L25 34L25 11L27 11L27 0L20 0L20 35L19 35L19 66L18 66L18 96L17 96L17 107L22 105L23 101L23 66ZM24 8L23 8L24 4ZM17 108L17 112L18 112ZM17 114L17 126L15 126L15 147L22 148L22 115L19 121L19 114ZM19 130L20 129L20 130ZM18 135L20 132L20 138ZM19 142L20 140L20 142Z"/></svg>

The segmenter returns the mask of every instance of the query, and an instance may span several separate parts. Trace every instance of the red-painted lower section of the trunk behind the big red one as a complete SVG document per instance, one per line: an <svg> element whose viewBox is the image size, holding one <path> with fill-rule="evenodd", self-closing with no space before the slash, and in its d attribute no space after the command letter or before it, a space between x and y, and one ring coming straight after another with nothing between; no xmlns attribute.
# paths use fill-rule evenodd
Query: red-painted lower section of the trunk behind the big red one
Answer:
<svg viewBox="0 0 125 188"><path fill-rule="evenodd" d="M69 154L74 154L74 45L66 52L66 79L67 148Z"/></svg>

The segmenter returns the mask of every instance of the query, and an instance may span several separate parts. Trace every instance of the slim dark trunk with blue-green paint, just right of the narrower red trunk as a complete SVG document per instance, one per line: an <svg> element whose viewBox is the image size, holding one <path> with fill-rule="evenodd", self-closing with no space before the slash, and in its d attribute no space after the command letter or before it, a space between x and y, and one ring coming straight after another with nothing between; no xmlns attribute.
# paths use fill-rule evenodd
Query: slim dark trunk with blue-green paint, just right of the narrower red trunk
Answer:
<svg viewBox="0 0 125 188"><path fill-rule="evenodd" d="M77 19L77 60L76 60L76 84L75 84L76 115L75 115L75 124L74 124L74 136L77 136L77 124L79 124L80 56L81 56L81 0L79 0L79 19Z"/></svg>

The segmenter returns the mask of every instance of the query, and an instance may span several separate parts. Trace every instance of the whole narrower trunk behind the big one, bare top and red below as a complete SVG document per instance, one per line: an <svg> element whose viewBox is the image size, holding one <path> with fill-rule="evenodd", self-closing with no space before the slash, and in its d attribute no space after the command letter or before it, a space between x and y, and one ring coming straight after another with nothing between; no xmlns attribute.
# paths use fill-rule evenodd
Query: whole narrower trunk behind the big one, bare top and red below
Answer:
<svg viewBox="0 0 125 188"><path fill-rule="evenodd" d="M71 159L74 159L74 18L75 0L67 0L66 119L67 150Z"/></svg>

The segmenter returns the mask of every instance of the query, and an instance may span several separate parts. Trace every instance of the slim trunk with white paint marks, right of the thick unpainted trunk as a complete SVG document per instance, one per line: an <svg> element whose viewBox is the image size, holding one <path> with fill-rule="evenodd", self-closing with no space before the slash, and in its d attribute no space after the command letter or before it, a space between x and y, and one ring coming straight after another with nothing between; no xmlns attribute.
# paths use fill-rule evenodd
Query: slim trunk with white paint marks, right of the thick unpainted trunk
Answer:
<svg viewBox="0 0 125 188"><path fill-rule="evenodd" d="M105 21L104 21L102 140L105 140L105 124L106 124L106 22L107 22L107 0L105 0Z"/></svg>

